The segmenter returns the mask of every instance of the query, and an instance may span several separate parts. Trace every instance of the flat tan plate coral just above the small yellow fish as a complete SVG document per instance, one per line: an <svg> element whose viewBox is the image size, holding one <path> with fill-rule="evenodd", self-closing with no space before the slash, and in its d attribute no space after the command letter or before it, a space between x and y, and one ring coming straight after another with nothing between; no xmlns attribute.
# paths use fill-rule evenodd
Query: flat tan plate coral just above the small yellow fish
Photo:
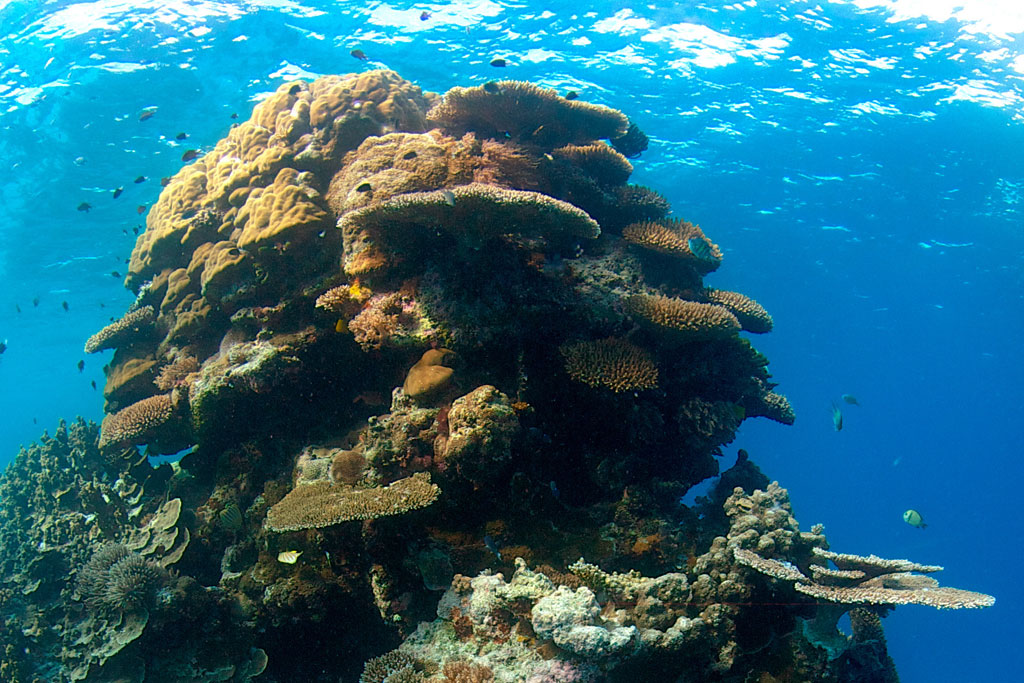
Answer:
<svg viewBox="0 0 1024 683"><path fill-rule="evenodd" d="M327 481L302 483L266 513L272 531L321 528L346 521L377 519L425 508L440 495L430 476L418 472L378 488L351 488Z"/></svg>

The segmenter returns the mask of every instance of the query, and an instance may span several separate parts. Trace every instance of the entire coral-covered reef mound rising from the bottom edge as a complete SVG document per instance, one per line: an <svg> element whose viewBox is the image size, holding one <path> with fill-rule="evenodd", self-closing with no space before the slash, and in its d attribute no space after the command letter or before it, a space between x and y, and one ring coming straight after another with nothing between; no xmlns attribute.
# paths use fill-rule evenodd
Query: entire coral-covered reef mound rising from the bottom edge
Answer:
<svg viewBox="0 0 1024 683"><path fill-rule="evenodd" d="M886 610L990 604L828 553L742 451L681 503L795 416L647 144L367 71L204 145L86 343L101 429L0 477L0 680L889 682Z"/></svg>

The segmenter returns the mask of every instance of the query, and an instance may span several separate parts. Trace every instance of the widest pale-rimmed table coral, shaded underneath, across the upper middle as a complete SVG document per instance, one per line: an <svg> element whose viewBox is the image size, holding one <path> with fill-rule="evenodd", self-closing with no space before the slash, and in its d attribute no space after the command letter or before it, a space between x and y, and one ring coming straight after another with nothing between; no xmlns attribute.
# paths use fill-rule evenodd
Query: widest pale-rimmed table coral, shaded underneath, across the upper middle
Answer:
<svg viewBox="0 0 1024 683"><path fill-rule="evenodd" d="M433 233L480 250L509 236L551 244L593 240L597 222L575 206L547 195L482 183L399 195L341 217L343 266L350 275L380 274L424 249Z"/></svg>

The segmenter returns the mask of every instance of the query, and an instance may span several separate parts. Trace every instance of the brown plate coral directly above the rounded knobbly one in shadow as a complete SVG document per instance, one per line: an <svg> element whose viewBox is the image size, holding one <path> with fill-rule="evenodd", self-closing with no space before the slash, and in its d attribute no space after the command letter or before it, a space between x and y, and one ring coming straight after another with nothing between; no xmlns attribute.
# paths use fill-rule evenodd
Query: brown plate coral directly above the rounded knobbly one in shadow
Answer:
<svg viewBox="0 0 1024 683"><path fill-rule="evenodd" d="M740 329L735 315L710 303L636 294L627 298L626 308L641 322L681 341L730 337Z"/></svg>

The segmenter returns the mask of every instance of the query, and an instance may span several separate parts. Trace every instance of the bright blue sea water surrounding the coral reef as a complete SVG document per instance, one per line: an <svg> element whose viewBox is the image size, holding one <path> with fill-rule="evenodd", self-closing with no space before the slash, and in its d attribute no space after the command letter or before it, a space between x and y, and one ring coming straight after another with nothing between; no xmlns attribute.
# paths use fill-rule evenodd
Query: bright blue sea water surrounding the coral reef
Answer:
<svg viewBox="0 0 1024 683"><path fill-rule="evenodd" d="M650 135L633 181L722 246L710 285L775 318L756 342L798 421L748 421L734 446L835 549L943 564L944 584L998 598L889 616L904 683L1014 679L1024 10L623 4L0 0L0 460L60 416L101 417L104 359L81 348L132 299L111 273L136 207L232 113L285 80L381 67L440 92L573 89ZM836 432L843 393L861 405ZM906 508L929 527L904 524Z"/></svg>

